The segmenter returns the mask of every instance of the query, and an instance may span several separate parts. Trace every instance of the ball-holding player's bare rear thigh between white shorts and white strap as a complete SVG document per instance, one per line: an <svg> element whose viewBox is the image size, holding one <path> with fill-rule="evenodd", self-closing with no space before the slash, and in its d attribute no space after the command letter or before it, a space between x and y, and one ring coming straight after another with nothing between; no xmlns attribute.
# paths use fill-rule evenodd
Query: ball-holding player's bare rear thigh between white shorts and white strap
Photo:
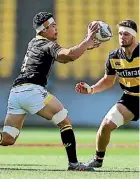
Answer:
<svg viewBox="0 0 140 179"><path fill-rule="evenodd" d="M21 129L26 114L7 114L4 122L4 126L12 126L17 129Z"/></svg>

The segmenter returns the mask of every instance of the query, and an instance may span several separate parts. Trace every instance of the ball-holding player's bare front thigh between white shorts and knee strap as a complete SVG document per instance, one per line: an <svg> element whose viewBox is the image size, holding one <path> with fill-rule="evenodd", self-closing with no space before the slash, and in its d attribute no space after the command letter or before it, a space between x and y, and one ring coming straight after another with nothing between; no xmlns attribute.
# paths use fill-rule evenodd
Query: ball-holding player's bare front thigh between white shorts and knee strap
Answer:
<svg viewBox="0 0 140 179"><path fill-rule="evenodd" d="M53 116L64 109L63 104L55 97L49 101L44 108L42 108L37 114L48 120L52 120Z"/></svg>

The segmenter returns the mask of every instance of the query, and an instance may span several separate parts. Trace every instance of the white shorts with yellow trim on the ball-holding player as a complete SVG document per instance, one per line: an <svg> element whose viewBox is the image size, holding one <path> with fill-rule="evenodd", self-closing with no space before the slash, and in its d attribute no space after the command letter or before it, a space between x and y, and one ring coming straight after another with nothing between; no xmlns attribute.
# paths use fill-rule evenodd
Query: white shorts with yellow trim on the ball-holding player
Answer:
<svg viewBox="0 0 140 179"><path fill-rule="evenodd" d="M23 84L11 89L8 99L8 114L35 114L40 111L53 95L39 85Z"/></svg>

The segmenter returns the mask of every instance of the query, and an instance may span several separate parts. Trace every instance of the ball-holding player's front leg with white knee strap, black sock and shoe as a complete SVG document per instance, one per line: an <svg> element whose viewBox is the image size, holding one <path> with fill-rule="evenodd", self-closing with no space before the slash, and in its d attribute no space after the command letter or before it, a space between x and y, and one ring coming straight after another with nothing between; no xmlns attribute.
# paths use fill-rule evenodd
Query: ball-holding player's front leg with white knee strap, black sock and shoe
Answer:
<svg viewBox="0 0 140 179"><path fill-rule="evenodd" d="M69 161L68 170L93 170L90 167L78 163L76 140L70 119L68 117L68 111L55 96L51 95L50 98L52 99L48 100L49 97L46 99L45 107L37 112L37 114L52 121L60 128L62 143L65 147Z"/></svg>

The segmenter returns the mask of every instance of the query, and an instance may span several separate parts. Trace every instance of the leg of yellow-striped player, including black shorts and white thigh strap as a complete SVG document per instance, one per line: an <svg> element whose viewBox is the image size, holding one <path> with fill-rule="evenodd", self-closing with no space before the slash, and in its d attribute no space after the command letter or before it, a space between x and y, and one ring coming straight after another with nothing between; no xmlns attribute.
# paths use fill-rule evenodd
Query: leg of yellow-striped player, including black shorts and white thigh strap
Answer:
<svg viewBox="0 0 140 179"><path fill-rule="evenodd" d="M131 102L130 102L131 101ZM102 166L111 132L125 123L139 119L139 97L124 94L105 116L96 136L96 155L93 165Z"/></svg>

